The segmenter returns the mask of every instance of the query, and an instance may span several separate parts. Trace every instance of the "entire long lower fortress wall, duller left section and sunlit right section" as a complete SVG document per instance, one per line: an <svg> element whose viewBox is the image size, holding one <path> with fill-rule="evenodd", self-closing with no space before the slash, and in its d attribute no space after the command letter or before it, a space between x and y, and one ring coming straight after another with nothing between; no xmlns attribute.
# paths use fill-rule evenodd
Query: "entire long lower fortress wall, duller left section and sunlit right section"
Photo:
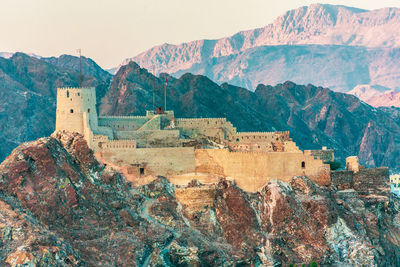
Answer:
<svg viewBox="0 0 400 267"><path fill-rule="evenodd" d="M193 179L215 183L219 177L228 177L243 190L254 192L271 179L290 181L296 175L306 175L320 185L330 184L329 165L301 152L246 153L168 147L105 150L100 154L106 162L143 168L144 176L164 175L174 184L187 184Z"/></svg>

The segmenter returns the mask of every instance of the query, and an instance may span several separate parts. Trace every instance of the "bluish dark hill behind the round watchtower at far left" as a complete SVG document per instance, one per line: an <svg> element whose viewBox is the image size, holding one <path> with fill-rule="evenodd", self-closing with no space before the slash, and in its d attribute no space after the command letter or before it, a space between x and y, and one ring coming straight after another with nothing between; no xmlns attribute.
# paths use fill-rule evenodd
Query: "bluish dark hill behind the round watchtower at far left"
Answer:
<svg viewBox="0 0 400 267"><path fill-rule="evenodd" d="M79 59L73 59L43 60L22 53L0 57L0 161L21 142L54 131L57 87L79 85ZM86 58L83 66L90 70L83 72L83 85L95 86L100 101L111 75Z"/></svg>

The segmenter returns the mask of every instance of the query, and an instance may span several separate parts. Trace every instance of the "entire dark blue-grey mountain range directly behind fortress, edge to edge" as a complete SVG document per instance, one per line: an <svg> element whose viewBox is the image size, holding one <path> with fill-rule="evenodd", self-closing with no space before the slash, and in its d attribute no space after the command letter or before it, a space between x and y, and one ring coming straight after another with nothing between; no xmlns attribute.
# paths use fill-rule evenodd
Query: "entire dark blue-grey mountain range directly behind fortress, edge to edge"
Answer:
<svg viewBox="0 0 400 267"><path fill-rule="evenodd" d="M83 58L83 86L95 86L101 115L143 115L161 105L164 80L136 63L112 77ZM37 59L17 53L0 58L0 148L5 158L19 143L54 130L56 88L79 85L79 58ZM226 117L239 131L289 130L301 149L328 146L338 160L358 155L368 166L400 169L400 115L357 97L313 85L260 84L254 92L203 75L168 77L168 109L177 117Z"/></svg>

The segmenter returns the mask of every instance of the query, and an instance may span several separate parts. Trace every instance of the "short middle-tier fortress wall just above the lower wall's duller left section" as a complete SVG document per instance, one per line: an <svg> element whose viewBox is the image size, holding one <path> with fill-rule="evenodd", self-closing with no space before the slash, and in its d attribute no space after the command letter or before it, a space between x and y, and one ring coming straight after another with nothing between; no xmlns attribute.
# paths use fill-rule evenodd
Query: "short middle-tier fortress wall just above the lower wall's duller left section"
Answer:
<svg viewBox="0 0 400 267"><path fill-rule="evenodd" d="M116 139L136 140L138 147L171 147L180 146L178 130L156 131L117 131Z"/></svg>

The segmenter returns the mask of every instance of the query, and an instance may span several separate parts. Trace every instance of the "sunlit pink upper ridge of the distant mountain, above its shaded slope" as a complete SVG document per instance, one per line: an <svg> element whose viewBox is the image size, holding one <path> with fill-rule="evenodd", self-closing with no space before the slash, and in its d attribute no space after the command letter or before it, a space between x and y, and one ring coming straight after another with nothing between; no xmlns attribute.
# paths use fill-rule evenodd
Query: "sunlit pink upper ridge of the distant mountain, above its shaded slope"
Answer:
<svg viewBox="0 0 400 267"><path fill-rule="evenodd" d="M174 73L178 69L182 70L194 63L200 62L201 50L209 51L207 58L227 56L244 51L249 48L264 45L284 45L284 44L336 44L336 45L361 45L366 47L400 47L400 38L390 33L385 35L379 26L383 23L391 23L392 28L400 25L400 9L383 8L372 11L355 9L345 6L313 4L290 10L276 18L271 24L238 32L232 36L214 40L196 40L178 45L163 44L144 51L133 58L129 58L122 64L130 60L136 61L139 65L148 68L156 66L156 73L167 71ZM346 23L354 24L345 25ZM392 25L393 24L393 25ZM340 29L335 29L338 27ZM357 27L356 27L357 26ZM364 29L365 32L359 33L360 28L376 26L373 29ZM340 38L338 32L347 28L354 33L346 33L347 36ZM334 32L327 32L327 29ZM323 33L325 32L325 35ZM358 35L356 34L358 32ZM373 33L380 32L381 38L372 38ZM384 35L384 36L382 36ZM324 37L318 39L318 37ZM358 37L357 37L358 36ZM372 40L371 40L372 39ZM166 54L171 51L169 54ZM181 54L178 52L182 51ZM190 53L192 52L192 53ZM184 54L193 55L193 60L186 60ZM158 57L156 58L156 55ZM163 55L169 56L168 63L164 62ZM204 56L203 56L204 57ZM151 64L150 64L151 63ZM182 66L179 66L182 65Z"/></svg>

